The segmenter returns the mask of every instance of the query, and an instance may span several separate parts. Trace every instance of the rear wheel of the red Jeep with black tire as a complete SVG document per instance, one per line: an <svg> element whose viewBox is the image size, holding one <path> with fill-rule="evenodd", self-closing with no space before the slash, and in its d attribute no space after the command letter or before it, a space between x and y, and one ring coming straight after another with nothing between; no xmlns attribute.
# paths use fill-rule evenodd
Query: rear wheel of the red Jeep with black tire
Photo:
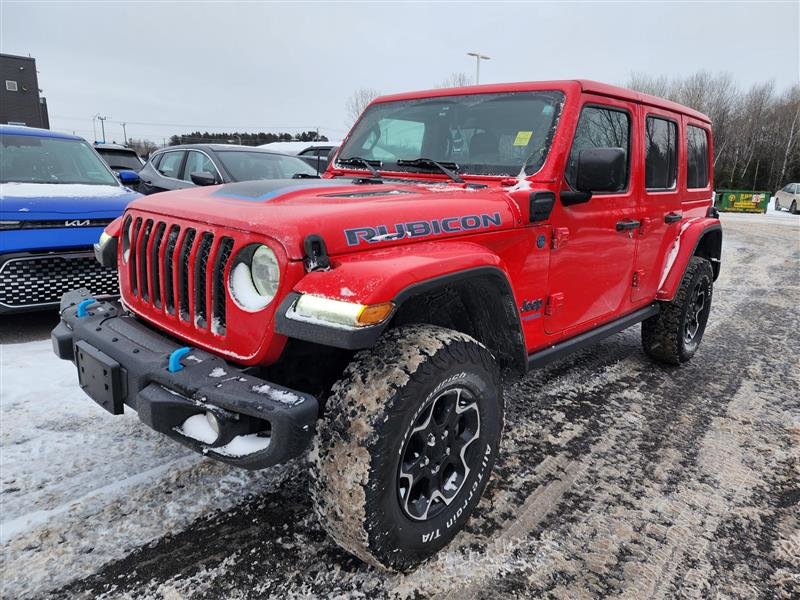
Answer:
<svg viewBox="0 0 800 600"><path fill-rule="evenodd" d="M711 263L693 256L675 298L662 302L659 314L642 321L642 346L648 356L671 365L692 358L703 339L713 287ZM702 307L698 299L702 300Z"/></svg>

